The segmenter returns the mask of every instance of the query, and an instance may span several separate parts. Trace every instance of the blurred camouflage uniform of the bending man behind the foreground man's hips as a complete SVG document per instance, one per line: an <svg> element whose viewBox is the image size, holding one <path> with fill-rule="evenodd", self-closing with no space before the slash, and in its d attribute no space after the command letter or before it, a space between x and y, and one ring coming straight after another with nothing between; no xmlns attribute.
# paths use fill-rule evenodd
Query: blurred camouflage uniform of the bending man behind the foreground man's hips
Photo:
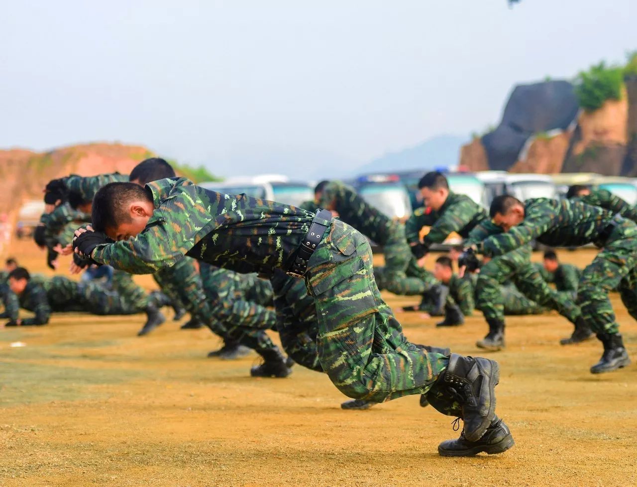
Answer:
<svg viewBox="0 0 637 487"><path fill-rule="evenodd" d="M436 284L433 275L421 268L413 257L403 224L392 221L369 205L354 189L332 181L324 187L319 206L333 207L341 221L382 245L385 256L382 284L387 291L403 295L423 294Z"/></svg>

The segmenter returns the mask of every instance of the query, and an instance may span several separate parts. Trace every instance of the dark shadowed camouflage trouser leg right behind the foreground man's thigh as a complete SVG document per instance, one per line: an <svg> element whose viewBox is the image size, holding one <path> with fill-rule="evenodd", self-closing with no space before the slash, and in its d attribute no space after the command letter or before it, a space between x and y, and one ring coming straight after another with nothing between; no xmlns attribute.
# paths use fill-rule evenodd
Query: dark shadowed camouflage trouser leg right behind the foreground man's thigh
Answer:
<svg viewBox="0 0 637 487"><path fill-rule="evenodd" d="M285 353L299 365L323 372L316 344L317 310L304 280L276 270L271 283L275 295L276 330Z"/></svg>

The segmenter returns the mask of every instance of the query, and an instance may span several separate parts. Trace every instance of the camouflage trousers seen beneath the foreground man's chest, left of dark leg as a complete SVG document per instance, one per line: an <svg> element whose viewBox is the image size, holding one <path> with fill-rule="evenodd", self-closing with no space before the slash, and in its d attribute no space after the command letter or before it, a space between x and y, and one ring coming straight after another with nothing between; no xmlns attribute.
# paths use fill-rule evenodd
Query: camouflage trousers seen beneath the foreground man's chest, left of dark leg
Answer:
<svg viewBox="0 0 637 487"><path fill-rule="evenodd" d="M265 330L276 328L276 314L265 307L248 302L241 291L236 273L199 263L205 299L199 302L197 316L214 319L213 331L260 353L275 348Z"/></svg>

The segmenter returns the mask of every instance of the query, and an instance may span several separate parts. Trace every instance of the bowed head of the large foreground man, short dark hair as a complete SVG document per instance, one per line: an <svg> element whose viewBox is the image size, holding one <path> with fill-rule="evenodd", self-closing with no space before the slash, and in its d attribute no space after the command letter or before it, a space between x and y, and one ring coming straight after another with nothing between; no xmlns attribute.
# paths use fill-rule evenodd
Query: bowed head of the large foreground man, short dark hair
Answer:
<svg viewBox="0 0 637 487"><path fill-rule="evenodd" d="M144 187L132 182L109 183L93 198L92 226L113 240L127 240L146 227L154 210Z"/></svg>

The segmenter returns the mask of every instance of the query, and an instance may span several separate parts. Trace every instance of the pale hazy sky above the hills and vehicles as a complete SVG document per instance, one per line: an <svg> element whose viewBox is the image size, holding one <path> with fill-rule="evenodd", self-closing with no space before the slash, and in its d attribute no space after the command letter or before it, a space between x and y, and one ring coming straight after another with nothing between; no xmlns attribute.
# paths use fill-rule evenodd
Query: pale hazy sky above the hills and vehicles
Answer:
<svg viewBox="0 0 637 487"><path fill-rule="evenodd" d="M342 173L637 49L634 0L3 2L0 147ZM324 174L329 177L329 173Z"/></svg>

